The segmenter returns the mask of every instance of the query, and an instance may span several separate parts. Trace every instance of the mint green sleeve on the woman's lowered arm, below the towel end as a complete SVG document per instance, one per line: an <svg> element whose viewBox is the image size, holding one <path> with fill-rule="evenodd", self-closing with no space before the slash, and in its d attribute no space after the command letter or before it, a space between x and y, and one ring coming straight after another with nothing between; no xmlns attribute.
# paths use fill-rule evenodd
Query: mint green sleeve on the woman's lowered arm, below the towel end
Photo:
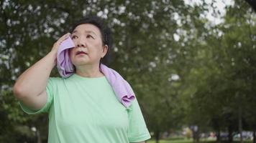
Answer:
<svg viewBox="0 0 256 143"><path fill-rule="evenodd" d="M129 142L142 142L150 139L150 132L148 132L147 125L143 118L140 106L135 98L128 109L129 115Z"/></svg>

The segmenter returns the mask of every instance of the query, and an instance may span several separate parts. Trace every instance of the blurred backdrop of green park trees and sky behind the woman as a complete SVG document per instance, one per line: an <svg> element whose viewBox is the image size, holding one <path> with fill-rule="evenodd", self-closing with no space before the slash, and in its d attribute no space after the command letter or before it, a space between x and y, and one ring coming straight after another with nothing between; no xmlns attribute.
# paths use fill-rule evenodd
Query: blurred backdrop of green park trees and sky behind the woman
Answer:
<svg viewBox="0 0 256 143"><path fill-rule="evenodd" d="M22 112L12 87L88 14L111 28L108 65L132 85L150 143L255 142L255 10L255 0L0 1L0 142L47 142L47 114Z"/></svg>

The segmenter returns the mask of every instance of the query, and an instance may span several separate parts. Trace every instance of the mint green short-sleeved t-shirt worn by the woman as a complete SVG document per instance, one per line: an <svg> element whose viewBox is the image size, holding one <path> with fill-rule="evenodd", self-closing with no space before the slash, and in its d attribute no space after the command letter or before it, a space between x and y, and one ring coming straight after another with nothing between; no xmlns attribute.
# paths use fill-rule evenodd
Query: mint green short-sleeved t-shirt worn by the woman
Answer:
<svg viewBox="0 0 256 143"><path fill-rule="evenodd" d="M27 114L48 112L50 143L126 143L150 139L137 99L129 108L116 98L106 77L50 77L47 103Z"/></svg>

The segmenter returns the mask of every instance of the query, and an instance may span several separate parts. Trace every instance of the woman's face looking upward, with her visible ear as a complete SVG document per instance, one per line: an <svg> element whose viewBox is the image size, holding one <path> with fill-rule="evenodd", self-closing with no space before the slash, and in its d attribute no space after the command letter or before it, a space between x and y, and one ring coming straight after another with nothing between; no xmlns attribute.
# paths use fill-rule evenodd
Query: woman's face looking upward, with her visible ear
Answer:
<svg viewBox="0 0 256 143"><path fill-rule="evenodd" d="M70 59L75 66L99 64L108 49L102 43L101 31L93 24L76 26L71 39L75 47L70 49Z"/></svg>

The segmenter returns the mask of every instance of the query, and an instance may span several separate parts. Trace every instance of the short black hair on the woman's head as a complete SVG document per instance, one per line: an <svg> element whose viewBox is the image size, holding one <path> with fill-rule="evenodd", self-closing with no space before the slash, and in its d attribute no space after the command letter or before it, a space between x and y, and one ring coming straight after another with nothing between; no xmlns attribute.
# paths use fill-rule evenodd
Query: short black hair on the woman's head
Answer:
<svg viewBox="0 0 256 143"><path fill-rule="evenodd" d="M109 27L104 23L104 19L101 19L99 16L85 16L83 19L77 21L75 24L73 24L72 29L70 30L70 33L76 29L76 26L81 24L93 24L94 26L98 27L101 31L101 39L103 45L107 45L109 47L106 55L103 59L101 59L101 62L103 64L109 64L109 51L112 46L112 36L111 36L111 30Z"/></svg>

